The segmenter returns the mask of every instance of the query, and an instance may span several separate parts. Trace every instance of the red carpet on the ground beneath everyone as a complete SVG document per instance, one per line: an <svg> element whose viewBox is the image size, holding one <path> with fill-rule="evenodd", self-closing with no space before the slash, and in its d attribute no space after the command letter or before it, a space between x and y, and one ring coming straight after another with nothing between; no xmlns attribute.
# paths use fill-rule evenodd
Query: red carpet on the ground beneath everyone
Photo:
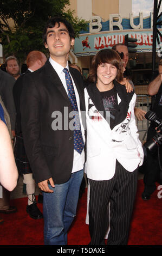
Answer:
<svg viewBox="0 0 162 256"><path fill-rule="evenodd" d="M142 180L138 182L128 245L162 245L162 198L154 191L148 201L141 199L144 189ZM85 192L79 200L77 217L68 233L68 245L88 245L90 241L86 218ZM43 245L43 220L33 220L26 213L27 198L11 201L17 206L15 214L1 214L4 223L0 225L0 245ZM42 210L42 204L38 204Z"/></svg>

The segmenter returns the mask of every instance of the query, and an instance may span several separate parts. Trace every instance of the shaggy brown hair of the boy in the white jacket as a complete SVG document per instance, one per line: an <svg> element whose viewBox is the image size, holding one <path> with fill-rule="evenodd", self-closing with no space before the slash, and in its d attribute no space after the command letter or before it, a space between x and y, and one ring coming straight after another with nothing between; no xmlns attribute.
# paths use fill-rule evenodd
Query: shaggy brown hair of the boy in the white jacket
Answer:
<svg viewBox="0 0 162 256"><path fill-rule="evenodd" d="M89 71L89 77L88 81L89 82L96 82L98 77L97 77L97 69L98 66L101 63L108 63L116 67L117 69L117 74L116 74L116 80L120 82L123 79L123 74L122 74L122 60L117 52L111 49L104 49L96 53L92 60L92 67Z"/></svg>

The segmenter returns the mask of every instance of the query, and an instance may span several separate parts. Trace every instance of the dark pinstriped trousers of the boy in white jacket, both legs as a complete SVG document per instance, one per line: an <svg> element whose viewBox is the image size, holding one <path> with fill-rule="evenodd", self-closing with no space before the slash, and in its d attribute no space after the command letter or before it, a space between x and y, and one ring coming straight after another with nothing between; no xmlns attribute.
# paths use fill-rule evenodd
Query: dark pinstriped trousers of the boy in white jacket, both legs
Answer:
<svg viewBox="0 0 162 256"><path fill-rule="evenodd" d="M102 245L109 226L108 245L127 245L129 225L137 191L138 169L128 172L116 162L111 180L90 180L89 233L90 245Z"/></svg>

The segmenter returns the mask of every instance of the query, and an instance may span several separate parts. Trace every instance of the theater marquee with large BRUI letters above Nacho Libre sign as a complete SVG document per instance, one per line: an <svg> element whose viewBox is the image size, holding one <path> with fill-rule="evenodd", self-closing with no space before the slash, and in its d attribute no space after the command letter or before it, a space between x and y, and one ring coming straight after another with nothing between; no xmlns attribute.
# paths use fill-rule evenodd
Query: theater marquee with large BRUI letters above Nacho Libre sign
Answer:
<svg viewBox="0 0 162 256"><path fill-rule="evenodd" d="M75 39L75 56L95 55L100 49L122 44L126 34L137 39L137 52L152 52L152 28L153 13L144 19L142 12L139 13L139 17L133 17L133 13L130 13L129 18L120 14L110 14L109 20L105 22L102 22L101 17L93 16L90 18L88 31L82 32L80 37ZM158 28L161 31L161 26L158 25ZM159 41L162 46L161 38Z"/></svg>

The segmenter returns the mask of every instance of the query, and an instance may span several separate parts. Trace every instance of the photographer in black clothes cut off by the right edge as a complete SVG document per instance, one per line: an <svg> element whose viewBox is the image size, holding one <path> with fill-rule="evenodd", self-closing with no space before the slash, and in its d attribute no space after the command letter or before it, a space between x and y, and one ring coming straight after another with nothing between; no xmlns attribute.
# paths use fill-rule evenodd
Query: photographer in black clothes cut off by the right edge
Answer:
<svg viewBox="0 0 162 256"><path fill-rule="evenodd" d="M158 119L162 120L162 59L159 62L159 75L148 85L148 95L155 95L155 102L152 111L155 113ZM148 119L149 120L149 119ZM156 136L156 125L154 121L151 121L150 127L147 132L147 142L153 141L152 138ZM161 133L161 131L160 131ZM160 143L158 143L160 144ZM145 144L145 147L146 144ZM145 174L144 174L144 192L142 193L142 199L150 199L151 194L156 189L155 182L161 183L160 178L160 162L162 159L162 146L155 147L155 152L147 148L147 156L145 161Z"/></svg>

